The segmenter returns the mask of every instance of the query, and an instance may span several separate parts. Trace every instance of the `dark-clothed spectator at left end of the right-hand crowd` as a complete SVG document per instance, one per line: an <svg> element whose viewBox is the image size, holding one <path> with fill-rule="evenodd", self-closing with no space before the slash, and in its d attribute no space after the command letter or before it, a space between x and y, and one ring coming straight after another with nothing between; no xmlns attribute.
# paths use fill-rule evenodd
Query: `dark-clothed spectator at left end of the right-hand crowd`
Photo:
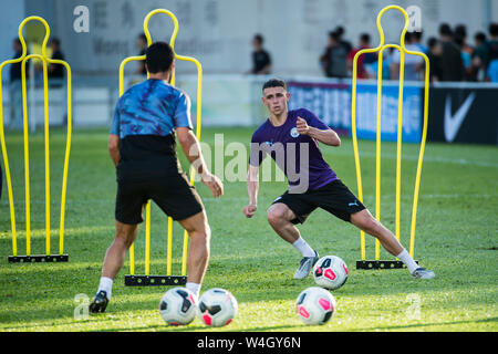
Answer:
<svg viewBox="0 0 498 354"><path fill-rule="evenodd" d="M329 45L325 52L320 56L320 62L326 77L346 77L347 76L347 54L350 51L344 43L340 41L338 32L329 32Z"/></svg>

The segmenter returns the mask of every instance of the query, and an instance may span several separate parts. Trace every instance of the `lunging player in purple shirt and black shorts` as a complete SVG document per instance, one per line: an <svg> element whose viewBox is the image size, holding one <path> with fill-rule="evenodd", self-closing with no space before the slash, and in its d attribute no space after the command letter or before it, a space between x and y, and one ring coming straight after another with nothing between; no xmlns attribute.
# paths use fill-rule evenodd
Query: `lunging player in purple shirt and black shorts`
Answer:
<svg viewBox="0 0 498 354"><path fill-rule="evenodd" d="M243 214L251 218L258 208L259 167L263 158L270 155L288 178L289 189L268 209L268 222L303 257L294 279L308 277L319 259L318 252L304 241L295 227L303 223L317 208L377 238L384 249L398 258L415 278L434 278L434 272L418 267L393 232L370 214L323 159L319 143L340 146L338 134L308 110L289 111L290 93L283 81L267 81L262 93L261 100L270 117L252 135L247 179L249 205L243 208Z"/></svg>

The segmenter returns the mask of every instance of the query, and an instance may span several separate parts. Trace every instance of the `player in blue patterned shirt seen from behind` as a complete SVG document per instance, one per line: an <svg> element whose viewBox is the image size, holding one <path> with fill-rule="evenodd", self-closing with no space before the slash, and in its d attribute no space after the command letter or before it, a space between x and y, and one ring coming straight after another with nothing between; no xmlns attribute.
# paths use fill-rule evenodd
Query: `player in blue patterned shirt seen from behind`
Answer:
<svg viewBox="0 0 498 354"><path fill-rule="evenodd" d="M224 186L206 167L193 133L190 98L169 84L175 65L169 44L156 42L148 46L145 65L149 79L132 86L118 100L111 127L108 149L117 177L116 236L105 254L91 312L105 311L114 278L136 238L149 199L188 231L187 289L196 295L209 260L207 216L195 187L181 170L175 133L183 152L215 198L224 194Z"/></svg>

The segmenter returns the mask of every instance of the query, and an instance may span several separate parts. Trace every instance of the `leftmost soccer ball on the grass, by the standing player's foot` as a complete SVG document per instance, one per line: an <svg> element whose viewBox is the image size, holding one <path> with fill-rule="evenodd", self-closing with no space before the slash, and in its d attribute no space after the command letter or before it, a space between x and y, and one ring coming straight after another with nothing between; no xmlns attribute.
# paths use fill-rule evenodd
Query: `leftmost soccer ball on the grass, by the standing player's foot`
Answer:
<svg viewBox="0 0 498 354"><path fill-rule="evenodd" d="M197 302L197 296L186 288L169 289L160 299L160 316L169 325L189 324L196 317Z"/></svg>

